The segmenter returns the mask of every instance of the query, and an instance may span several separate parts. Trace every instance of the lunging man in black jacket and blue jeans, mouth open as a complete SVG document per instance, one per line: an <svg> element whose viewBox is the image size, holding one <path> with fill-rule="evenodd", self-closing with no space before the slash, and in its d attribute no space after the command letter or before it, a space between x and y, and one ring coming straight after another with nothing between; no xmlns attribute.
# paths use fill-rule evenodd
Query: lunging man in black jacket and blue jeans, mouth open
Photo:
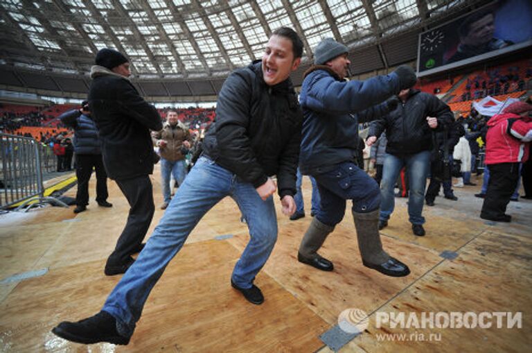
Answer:
<svg viewBox="0 0 532 353"><path fill-rule="evenodd" d="M254 284L277 238L273 194L283 213L296 210L296 166L302 112L289 78L301 62L303 43L290 28L274 31L262 62L237 69L218 96L216 120L199 157L146 243L107 298L103 310L53 332L79 343L127 344L151 289L206 212L231 196L244 215L250 241L237 261L231 285L249 302L264 300ZM278 184L270 178L277 175Z"/></svg>

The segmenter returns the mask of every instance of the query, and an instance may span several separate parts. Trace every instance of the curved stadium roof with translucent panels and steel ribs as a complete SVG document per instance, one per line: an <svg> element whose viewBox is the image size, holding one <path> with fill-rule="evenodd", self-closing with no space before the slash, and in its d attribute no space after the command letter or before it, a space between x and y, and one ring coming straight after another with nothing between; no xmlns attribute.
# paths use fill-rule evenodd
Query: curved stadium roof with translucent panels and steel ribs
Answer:
<svg viewBox="0 0 532 353"><path fill-rule="evenodd" d="M237 67L260 58L269 34L290 26L312 49L333 37L353 74L417 55L418 34L485 1L468 0L0 0L0 88L81 98L99 49L130 59L154 101L213 97Z"/></svg>

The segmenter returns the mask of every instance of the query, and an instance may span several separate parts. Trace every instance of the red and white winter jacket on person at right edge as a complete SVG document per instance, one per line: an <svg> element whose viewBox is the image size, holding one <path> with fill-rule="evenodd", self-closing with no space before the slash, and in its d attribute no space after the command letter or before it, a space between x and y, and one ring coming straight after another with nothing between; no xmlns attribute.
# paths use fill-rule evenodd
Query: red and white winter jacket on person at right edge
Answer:
<svg viewBox="0 0 532 353"><path fill-rule="evenodd" d="M486 164L525 162L529 143L520 138L532 130L532 119L513 113L494 115L488 121Z"/></svg>

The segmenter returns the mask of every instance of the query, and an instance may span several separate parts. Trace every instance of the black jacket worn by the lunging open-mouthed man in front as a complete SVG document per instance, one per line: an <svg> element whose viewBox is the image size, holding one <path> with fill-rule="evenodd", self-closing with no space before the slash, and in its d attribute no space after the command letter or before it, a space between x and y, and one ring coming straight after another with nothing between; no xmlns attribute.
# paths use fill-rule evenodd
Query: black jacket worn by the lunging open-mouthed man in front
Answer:
<svg viewBox="0 0 532 353"><path fill-rule="evenodd" d="M254 187L277 175L279 196L293 196L302 120L290 78L266 85L256 60L225 80L204 154Z"/></svg>

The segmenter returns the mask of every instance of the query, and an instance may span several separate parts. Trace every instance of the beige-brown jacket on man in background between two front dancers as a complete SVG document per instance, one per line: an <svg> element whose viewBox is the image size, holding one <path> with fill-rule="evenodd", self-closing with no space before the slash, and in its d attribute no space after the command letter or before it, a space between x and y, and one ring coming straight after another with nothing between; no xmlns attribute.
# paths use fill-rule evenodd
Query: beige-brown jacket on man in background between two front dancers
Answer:
<svg viewBox="0 0 532 353"><path fill-rule="evenodd" d="M191 142L190 132L181 121L177 121L173 128L168 122L163 124L163 130L152 132L153 144L159 147L159 155L168 161L184 160L185 155L181 152L183 141ZM160 141L166 141L166 146L161 147Z"/></svg>

